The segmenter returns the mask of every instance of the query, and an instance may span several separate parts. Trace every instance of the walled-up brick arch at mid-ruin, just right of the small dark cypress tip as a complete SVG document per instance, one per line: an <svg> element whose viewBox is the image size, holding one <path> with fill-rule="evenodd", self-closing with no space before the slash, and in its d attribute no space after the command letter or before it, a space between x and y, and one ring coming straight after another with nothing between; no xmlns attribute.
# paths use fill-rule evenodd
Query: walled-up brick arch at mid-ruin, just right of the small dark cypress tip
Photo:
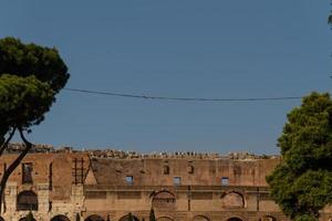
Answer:
<svg viewBox="0 0 332 221"><path fill-rule="evenodd" d="M175 196L166 190L157 192L152 200L152 207L159 210L173 210L175 206Z"/></svg>

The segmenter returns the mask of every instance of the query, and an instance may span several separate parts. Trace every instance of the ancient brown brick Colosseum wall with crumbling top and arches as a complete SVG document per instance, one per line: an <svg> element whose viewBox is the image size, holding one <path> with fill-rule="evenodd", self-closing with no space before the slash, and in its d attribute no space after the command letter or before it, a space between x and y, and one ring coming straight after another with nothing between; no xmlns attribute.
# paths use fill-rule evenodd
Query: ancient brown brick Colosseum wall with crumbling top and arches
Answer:
<svg viewBox="0 0 332 221"><path fill-rule="evenodd" d="M2 156L0 171L20 145ZM12 173L0 220L282 221L266 176L278 156L53 149L39 145ZM0 172L1 176L2 172ZM330 220L331 208L322 212Z"/></svg>

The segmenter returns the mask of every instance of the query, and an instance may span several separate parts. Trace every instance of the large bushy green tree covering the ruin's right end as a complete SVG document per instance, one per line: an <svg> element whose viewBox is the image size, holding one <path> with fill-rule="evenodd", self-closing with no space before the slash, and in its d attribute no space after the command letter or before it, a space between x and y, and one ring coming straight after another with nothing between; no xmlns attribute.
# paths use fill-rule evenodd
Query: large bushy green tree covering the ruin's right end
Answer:
<svg viewBox="0 0 332 221"><path fill-rule="evenodd" d="M267 177L271 197L295 221L317 221L332 202L332 101L312 93L288 114L282 162Z"/></svg>

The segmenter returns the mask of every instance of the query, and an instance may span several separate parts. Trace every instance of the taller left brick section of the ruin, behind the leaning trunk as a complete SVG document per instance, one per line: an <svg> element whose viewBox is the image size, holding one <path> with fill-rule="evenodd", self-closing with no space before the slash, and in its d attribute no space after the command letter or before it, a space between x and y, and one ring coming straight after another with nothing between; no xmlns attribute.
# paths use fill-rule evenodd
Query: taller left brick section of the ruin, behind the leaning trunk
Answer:
<svg viewBox="0 0 332 221"><path fill-rule="evenodd" d="M17 158L7 154L0 160L0 176L4 168ZM4 220L20 220L32 210L37 220L51 220L63 214L74 220L83 208L83 180L75 183L75 161L83 161L83 176L90 160L83 152L29 154L11 175L4 192L1 217ZM79 164L79 162L77 162ZM29 167L27 167L29 166ZM31 203L34 201L35 203Z"/></svg>

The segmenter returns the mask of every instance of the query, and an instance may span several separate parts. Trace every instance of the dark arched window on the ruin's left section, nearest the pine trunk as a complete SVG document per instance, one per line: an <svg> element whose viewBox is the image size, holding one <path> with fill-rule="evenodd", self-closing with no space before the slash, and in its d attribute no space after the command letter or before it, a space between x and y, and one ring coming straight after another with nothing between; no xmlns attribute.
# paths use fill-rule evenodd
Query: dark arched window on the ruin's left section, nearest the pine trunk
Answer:
<svg viewBox="0 0 332 221"><path fill-rule="evenodd" d="M38 197L33 191L22 191L18 196L17 202L17 210L18 211L31 211L38 210Z"/></svg>

